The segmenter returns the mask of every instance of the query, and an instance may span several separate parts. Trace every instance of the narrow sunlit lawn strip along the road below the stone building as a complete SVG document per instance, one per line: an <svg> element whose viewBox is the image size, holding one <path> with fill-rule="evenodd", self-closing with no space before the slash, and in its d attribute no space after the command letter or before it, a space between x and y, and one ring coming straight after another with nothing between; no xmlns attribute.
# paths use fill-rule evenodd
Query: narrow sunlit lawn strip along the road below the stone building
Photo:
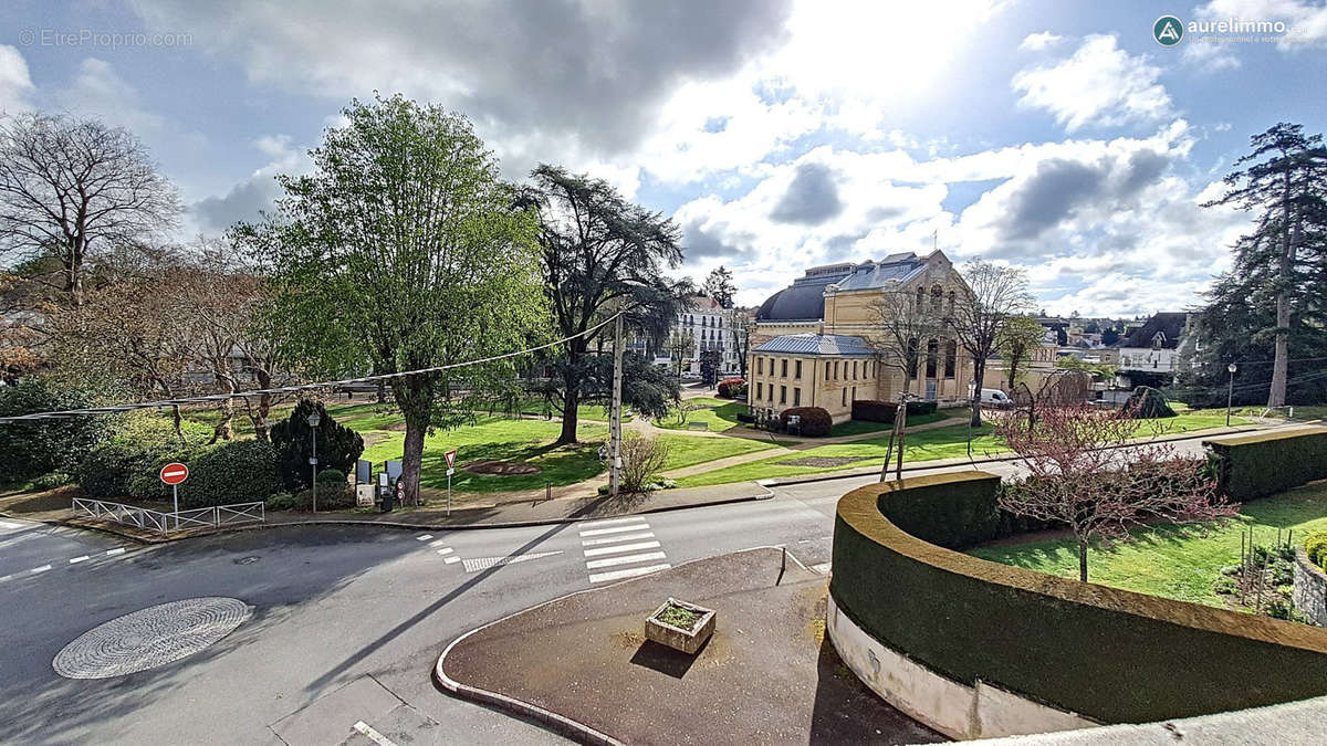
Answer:
<svg viewBox="0 0 1327 746"><path fill-rule="evenodd" d="M973 455L986 455L1001 453L1005 449L991 433L990 425L982 425L974 430ZM828 471L841 471L845 469L859 469L863 466L880 466L885 461L885 451L889 438L864 438L848 443L828 443L795 454L782 454L751 463L740 463L727 469L706 471L678 479L678 487L701 487L705 485L725 485L729 482L747 482L751 479L770 479L774 477L798 477L802 474L821 474ZM909 433L906 447L904 449L904 462L933 461L938 458L954 458L967 455L967 426L954 425L951 427L937 427L921 433ZM803 458L861 458L843 466L798 466L786 463Z"/></svg>

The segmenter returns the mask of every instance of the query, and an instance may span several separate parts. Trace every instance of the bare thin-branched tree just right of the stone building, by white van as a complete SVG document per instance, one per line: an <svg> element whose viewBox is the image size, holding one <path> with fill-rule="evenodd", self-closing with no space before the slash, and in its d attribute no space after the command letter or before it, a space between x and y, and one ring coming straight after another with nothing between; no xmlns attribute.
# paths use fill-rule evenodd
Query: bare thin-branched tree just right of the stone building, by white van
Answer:
<svg viewBox="0 0 1327 746"><path fill-rule="evenodd" d="M982 386L986 362L995 354L1005 320L1031 308L1027 273L1019 267L991 264L981 259L963 268L970 292L958 293L950 317L954 336L973 358L973 427L982 423Z"/></svg>

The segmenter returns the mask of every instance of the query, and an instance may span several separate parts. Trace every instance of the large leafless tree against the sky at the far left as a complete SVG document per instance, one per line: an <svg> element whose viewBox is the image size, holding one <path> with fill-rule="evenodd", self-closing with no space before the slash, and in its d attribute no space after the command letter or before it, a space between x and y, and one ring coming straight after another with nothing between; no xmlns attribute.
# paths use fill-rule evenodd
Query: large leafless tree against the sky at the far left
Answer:
<svg viewBox="0 0 1327 746"><path fill-rule="evenodd" d="M58 258L72 305L84 301L89 258L170 227L179 211L127 130L65 114L0 118L0 254Z"/></svg>

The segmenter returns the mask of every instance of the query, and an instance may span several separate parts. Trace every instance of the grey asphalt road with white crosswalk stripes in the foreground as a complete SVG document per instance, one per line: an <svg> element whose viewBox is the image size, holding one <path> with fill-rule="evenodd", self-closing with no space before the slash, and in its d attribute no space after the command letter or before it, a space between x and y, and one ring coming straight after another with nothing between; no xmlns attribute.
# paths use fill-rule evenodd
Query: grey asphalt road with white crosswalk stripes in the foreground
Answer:
<svg viewBox="0 0 1327 746"><path fill-rule="evenodd" d="M564 526L284 527L127 551L97 534L5 520L0 722L9 725L0 741L372 743L354 730L364 723L398 743L560 742L439 693L430 672L447 642L641 568L735 550L787 546L828 571L835 504L873 481L786 486L768 500ZM100 680L65 678L52 666L100 624L210 596L239 599L251 616L190 657ZM134 634L150 638L154 625Z"/></svg>

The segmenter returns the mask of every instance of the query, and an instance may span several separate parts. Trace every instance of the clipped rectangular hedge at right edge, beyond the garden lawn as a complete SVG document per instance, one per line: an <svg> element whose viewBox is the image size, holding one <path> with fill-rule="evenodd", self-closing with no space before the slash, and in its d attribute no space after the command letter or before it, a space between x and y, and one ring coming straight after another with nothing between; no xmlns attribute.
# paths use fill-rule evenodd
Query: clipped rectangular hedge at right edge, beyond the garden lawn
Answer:
<svg viewBox="0 0 1327 746"><path fill-rule="evenodd" d="M1327 430L1258 433L1202 442L1216 461L1221 491L1254 500L1327 478Z"/></svg>

